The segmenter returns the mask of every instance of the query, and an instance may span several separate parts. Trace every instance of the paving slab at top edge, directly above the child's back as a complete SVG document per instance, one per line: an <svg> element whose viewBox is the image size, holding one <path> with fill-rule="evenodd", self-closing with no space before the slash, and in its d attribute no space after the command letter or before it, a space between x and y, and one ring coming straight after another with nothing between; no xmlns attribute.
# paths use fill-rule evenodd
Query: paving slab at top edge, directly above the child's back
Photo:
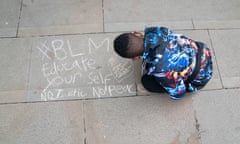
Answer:
<svg viewBox="0 0 240 144"><path fill-rule="evenodd" d="M143 31L146 25L163 25L174 29L192 29L191 13L179 13L183 5L190 7L189 1L176 5L174 1L104 1L104 29L106 32ZM174 9L172 6L174 5ZM170 11L171 9L171 11ZM190 10L185 9L186 11ZM166 13L167 12L167 13ZM182 17L179 15L182 14Z"/></svg>

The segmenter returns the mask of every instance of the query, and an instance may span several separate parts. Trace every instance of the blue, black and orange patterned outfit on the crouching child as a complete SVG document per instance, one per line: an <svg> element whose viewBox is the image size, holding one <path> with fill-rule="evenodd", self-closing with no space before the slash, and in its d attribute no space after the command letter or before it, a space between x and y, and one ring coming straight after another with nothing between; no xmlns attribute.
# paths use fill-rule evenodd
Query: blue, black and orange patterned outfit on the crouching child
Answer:
<svg viewBox="0 0 240 144"><path fill-rule="evenodd" d="M212 58L206 44L165 27L146 27L144 32L143 67L171 98L181 99L211 79Z"/></svg>

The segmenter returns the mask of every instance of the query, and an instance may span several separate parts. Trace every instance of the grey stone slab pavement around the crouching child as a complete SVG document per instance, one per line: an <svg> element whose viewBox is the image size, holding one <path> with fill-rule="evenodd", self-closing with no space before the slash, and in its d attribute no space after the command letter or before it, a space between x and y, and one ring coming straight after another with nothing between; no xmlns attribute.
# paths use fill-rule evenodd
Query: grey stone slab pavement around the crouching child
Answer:
<svg viewBox="0 0 240 144"><path fill-rule="evenodd" d="M0 144L239 144L239 0L1 0ZM214 74L171 100L117 56L166 26L207 43Z"/></svg>

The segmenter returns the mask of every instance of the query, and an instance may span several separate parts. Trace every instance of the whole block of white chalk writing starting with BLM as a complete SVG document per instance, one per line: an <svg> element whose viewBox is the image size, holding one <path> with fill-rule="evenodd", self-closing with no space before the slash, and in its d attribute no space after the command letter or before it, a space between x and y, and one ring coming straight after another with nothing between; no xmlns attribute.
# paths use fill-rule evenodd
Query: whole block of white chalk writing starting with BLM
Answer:
<svg viewBox="0 0 240 144"><path fill-rule="evenodd" d="M131 62L96 57L99 52L112 55L109 38L100 42L89 38L79 48L73 47L70 40L44 40L36 48L42 60L41 73L47 82L40 94L43 101L136 93L134 84L121 83L133 73ZM117 82L113 84L113 80ZM84 87L75 88L79 83Z"/></svg>

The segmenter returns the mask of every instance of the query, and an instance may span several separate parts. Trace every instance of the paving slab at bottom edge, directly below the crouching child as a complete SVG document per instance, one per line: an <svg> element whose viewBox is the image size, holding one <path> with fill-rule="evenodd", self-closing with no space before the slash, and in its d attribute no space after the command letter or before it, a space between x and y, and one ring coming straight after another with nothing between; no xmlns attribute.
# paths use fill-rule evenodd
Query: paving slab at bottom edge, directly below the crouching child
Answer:
<svg viewBox="0 0 240 144"><path fill-rule="evenodd" d="M191 96L167 95L87 100L88 144L199 144Z"/></svg>

